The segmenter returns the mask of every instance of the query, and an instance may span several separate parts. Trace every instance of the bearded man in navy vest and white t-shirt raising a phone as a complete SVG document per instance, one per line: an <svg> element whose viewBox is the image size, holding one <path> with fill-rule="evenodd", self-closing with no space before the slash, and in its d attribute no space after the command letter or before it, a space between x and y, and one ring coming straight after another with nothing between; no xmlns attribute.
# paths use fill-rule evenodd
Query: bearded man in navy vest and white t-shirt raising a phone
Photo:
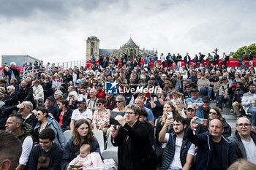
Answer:
<svg viewBox="0 0 256 170"><path fill-rule="evenodd" d="M166 134L167 128L173 124L174 132ZM168 118L159 134L159 142L166 143L162 155L162 169L190 169L195 155L195 144L184 136L187 120L177 116Z"/></svg>

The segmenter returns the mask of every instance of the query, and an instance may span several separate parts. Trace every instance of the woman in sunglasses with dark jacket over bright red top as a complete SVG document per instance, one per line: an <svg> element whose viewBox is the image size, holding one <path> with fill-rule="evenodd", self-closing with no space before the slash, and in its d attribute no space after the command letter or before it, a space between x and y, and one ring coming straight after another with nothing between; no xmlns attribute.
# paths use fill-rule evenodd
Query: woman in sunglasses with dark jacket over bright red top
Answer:
<svg viewBox="0 0 256 170"><path fill-rule="evenodd" d="M67 107L69 104L69 101L67 101L66 99L61 99L61 101L59 101L58 106L59 106L59 112L57 115L57 122L59 122L59 125L61 126L61 130L64 132L69 128L69 124L71 121L71 116L72 116L72 109L69 109L69 107Z"/></svg>

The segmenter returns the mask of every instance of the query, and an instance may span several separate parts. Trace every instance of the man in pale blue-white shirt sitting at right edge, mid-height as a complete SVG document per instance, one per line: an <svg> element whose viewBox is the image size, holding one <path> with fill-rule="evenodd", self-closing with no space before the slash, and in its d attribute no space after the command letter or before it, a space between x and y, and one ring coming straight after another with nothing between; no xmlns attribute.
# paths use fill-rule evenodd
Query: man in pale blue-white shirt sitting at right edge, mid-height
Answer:
<svg viewBox="0 0 256 170"><path fill-rule="evenodd" d="M256 128L256 85L249 86L249 92L244 93L242 105L245 112L252 114L252 128Z"/></svg>

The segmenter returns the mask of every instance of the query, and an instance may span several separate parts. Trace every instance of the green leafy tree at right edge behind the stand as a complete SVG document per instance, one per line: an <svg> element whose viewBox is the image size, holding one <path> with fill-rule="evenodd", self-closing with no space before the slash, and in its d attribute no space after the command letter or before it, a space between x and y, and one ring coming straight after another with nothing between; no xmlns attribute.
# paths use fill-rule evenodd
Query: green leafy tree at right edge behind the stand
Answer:
<svg viewBox="0 0 256 170"><path fill-rule="evenodd" d="M249 53L252 53L253 57L255 58L256 56L256 45L255 43L252 45L244 46L244 47L240 47L238 48L238 50L234 53L234 52L230 52L230 56L232 56L232 58L246 58Z"/></svg>

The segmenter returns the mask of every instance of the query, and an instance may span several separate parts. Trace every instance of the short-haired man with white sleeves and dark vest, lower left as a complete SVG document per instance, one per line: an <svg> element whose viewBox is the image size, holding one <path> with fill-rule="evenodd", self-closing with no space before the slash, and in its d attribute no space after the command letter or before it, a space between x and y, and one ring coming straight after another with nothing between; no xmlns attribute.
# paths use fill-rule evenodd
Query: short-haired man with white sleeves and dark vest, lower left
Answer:
<svg viewBox="0 0 256 170"><path fill-rule="evenodd" d="M16 169L22 170L27 168L29 155L33 147L33 139L31 137L32 126L28 123L23 123L21 115L12 114L7 119L5 128L6 131L12 131L12 133L20 139L22 144L22 153Z"/></svg>

